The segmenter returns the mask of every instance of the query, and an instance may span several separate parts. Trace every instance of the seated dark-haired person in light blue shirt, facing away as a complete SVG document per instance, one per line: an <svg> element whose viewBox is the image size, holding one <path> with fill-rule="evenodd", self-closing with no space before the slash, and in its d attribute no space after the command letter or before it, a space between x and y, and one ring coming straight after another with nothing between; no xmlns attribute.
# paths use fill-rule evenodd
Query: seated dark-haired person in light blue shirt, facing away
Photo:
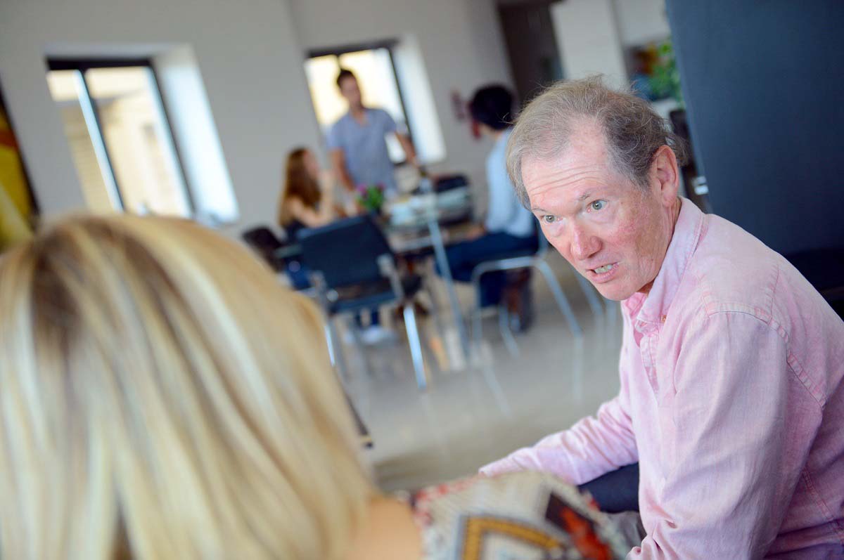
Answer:
<svg viewBox="0 0 844 560"><path fill-rule="evenodd" d="M486 159L489 205L483 225L469 234L470 240L446 250L452 277L470 282L472 271L484 261L524 255L537 248L533 214L516 197L507 175L506 148L513 120L513 96L500 85L490 85L475 92L469 111L479 131L493 142ZM481 277L481 305L496 305L501 300L505 273L489 272Z"/></svg>

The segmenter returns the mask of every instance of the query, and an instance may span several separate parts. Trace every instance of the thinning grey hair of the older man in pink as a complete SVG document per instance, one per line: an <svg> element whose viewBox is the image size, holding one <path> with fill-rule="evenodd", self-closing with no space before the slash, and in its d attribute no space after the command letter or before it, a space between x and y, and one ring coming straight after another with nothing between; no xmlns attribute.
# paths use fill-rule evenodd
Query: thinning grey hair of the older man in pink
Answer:
<svg viewBox="0 0 844 560"><path fill-rule="evenodd" d="M564 80L545 89L522 110L507 143L507 172L525 207L529 202L522 160L559 155L576 127L585 122L603 129L614 170L643 189L658 148L674 150L678 164L686 160L683 139L668 129L668 123L646 100L608 88L600 76Z"/></svg>

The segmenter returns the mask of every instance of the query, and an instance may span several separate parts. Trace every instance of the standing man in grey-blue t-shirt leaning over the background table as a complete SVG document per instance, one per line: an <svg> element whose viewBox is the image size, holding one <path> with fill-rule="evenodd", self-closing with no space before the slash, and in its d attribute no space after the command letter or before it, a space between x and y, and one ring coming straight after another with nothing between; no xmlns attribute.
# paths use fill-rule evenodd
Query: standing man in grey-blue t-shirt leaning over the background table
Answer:
<svg viewBox="0 0 844 560"><path fill-rule="evenodd" d="M366 107L354 73L342 68L337 77L340 94L349 103L349 112L340 117L328 132L328 149L334 172L349 192L357 186L381 185L387 197L398 194L395 164L387 151L387 134L394 134L402 145L409 164L419 167L410 138L398 131L386 110Z"/></svg>

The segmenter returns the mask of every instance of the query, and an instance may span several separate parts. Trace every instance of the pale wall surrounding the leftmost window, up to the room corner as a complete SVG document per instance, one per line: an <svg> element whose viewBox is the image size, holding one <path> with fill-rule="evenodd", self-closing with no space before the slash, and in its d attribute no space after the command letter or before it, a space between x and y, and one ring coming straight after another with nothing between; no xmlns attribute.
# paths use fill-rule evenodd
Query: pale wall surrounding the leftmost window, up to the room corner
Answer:
<svg viewBox="0 0 844 560"><path fill-rule="evenodd" d="M285 0L3 0L3 94L44 213L84 207L45 55L152 55L184 44L201 69L241 227L273 221L284 153L319 142Z"/></svg>

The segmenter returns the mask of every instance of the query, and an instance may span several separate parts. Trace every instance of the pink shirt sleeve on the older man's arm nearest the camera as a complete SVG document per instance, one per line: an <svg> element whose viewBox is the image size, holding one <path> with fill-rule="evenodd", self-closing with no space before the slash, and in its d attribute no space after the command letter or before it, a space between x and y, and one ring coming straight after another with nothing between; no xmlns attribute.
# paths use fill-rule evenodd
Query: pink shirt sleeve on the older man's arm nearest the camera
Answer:
<svg viewBox="0 0 844 560"><path fill-rule="evenodd" d="M754 315L690 329L665 402L658 518L628 559L764 557L820 426L786 342Z"/></svg>

